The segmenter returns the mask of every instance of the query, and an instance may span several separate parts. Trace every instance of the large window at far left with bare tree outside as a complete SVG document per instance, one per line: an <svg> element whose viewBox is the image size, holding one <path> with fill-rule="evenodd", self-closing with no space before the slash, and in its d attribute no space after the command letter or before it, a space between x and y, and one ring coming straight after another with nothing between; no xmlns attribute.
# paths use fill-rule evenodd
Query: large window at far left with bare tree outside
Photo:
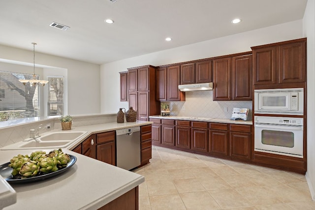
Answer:
<svg viewBox="0 0 315 210"><path fill-rule="evenodd" d="M0 71L0 121L39 116L37 85L19 82L31 78L32 74Z"/></svg>

